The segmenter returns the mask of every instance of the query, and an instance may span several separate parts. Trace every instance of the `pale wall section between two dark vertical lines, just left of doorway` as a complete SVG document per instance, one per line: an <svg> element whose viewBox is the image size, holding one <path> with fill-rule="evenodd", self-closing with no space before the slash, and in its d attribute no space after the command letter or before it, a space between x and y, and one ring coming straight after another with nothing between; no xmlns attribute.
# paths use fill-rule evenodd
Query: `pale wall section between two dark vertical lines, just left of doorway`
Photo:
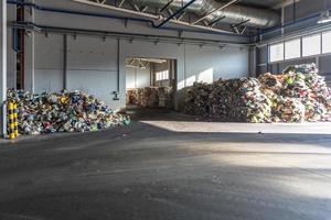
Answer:
<svg viewBox="0 0 331 220"><path fill-rule="evenodd" d="M92 36L67 37L67 89L81 90L116 106L118 41Z"/></svg>

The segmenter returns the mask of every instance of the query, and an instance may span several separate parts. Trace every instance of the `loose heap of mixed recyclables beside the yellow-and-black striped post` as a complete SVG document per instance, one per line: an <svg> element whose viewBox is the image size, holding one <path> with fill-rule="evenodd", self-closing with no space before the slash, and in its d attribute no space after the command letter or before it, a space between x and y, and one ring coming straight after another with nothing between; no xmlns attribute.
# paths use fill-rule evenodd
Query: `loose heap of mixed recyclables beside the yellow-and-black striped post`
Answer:
<svg viewBox="0 0 331 220"><path fill-rule="evenodd" d="M130 123L127 116L81 91L35 95L8 90L8 100L18 103L20 134L87 132Z"/></svg>

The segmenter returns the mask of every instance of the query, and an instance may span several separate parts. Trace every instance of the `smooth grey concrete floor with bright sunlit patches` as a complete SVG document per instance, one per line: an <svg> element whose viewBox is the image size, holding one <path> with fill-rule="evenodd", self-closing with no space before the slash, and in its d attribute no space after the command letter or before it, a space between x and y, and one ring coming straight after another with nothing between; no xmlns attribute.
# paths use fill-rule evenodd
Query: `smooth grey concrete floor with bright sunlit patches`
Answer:
<svg viewBox="0 0 331 220"><path fill-rule="evenodd" d="M330 124L148 114L1 142L0 219L331 219Z"/></svg>

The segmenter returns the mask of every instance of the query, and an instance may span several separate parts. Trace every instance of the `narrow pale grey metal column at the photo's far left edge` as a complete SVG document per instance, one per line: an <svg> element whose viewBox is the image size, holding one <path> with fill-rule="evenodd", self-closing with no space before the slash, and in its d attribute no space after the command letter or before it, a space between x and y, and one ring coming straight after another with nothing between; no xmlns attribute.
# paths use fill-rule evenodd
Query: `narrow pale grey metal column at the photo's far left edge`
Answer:
<svg viewBox="0 0 331 220"><path fill-rule="evenodd" d="M7 1L0 2L0 134L7 133Z"/></svg>

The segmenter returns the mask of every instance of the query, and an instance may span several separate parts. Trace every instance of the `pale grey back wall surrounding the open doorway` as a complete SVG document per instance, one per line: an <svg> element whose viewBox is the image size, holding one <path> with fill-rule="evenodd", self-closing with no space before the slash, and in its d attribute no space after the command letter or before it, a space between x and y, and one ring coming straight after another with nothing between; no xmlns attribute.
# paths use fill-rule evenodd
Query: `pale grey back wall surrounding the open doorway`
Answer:
<svg viewBox="0 0 331 220"><path fill-rule="evenodd" d="M108 10L98 10L68 0L42 1L35 3L54 8L75 9L109 13ZM129 22L125 28L122 21L100 18L85 18L82 15L55 14L34 11L30 14L26 9L26 21L38 24L66 26L74 29L90 29L119 31L128 33L158 34L178 36L178 32L160 31L148 28L146 24ZM183 36L193 36L183 33ZM239 40L228 36L194 34L202 38L217 38L226 41ZM119 45L118 45L119 43ZM119 47L118 47L119 46ZM63 70L63 35L49 33L49 37L41 33L25 36L25 89L35 92L57 91L64 88L79 89L104 99L109 106L119 109L126 106L126 67L125 61L129 57L153 57L177 59L178 90L192 85L194 80L211 81L222 78L248 76L248 51L226 46L199 46L189 43L177 44L102 36L84 36L76 38L67 36L67 75ZM118 66L119 65L119 66ZM119 85L118 85L119 81ZM113 91L119 87L119 100L114 100ZM177 102L180 101L180 92Z"/></svg>

